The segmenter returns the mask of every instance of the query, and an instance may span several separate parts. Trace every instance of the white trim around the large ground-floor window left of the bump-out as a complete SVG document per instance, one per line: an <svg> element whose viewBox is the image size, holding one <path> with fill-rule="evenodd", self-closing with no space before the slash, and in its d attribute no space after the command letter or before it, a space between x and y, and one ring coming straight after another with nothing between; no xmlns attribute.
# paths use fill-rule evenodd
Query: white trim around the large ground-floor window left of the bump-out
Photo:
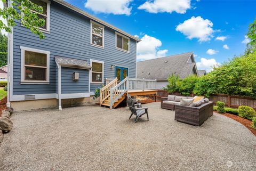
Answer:
<svg viewBox="0 0 256 171"><path fill-rule="evenodd" d="M38 50L30 47L20 46L21 49L21 66L20 66L20 84L49 84L50 80L50 53L49 51ZM25 51L47 54L46 62L46 80L25 80ZM34 67L34 66L33 66Z"/></svg>

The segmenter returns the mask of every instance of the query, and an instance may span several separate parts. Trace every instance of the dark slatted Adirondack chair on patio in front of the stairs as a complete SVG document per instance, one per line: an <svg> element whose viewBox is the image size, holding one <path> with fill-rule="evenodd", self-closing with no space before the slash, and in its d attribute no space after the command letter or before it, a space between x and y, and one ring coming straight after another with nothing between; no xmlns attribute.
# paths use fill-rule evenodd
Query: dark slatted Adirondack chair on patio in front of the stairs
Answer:
<svg viewBox="0 0 256 171"><path fill-rule="evenodd" d="M136 123L138 118L144 114L147 114L147 118L148 118L148 108L138 108L138 106L137 106L137 108L135 108L134 101L131 97L128 98L127 102L128 102L129 109L132 112L129 119L131 119L132 115L136 115L136 118L134 120L134 122ZM149 118L148 118L148 120L149 120Z"/></svg>

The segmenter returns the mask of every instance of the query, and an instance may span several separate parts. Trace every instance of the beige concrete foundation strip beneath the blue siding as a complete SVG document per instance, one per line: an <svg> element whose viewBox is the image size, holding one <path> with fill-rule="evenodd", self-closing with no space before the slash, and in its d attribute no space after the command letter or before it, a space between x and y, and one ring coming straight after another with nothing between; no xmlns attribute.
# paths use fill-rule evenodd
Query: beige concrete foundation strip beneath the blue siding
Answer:
<svg viewBox="0 0 256 171"><path fill-rule="evenodd" d="M74 107L84 105L86 103L99 103L99 98L94 96L76 99L62 99L61 105L64 107ZM33 109L53 108L58 107L58 99L42 99L42 100L28 100L28 101L14 101L11 102L13 111L24 111Z"/></svg>

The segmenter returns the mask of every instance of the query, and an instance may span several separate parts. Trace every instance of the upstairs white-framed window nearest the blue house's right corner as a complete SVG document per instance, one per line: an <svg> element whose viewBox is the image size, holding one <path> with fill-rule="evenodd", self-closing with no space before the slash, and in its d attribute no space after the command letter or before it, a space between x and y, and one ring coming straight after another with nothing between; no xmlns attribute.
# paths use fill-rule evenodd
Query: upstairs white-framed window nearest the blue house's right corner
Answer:
<svg viewBox="0 0 256 171"><path fill-rule="evenodd" d="M130 38L116 32L116 49L129 52L130 51Z"/></svg>

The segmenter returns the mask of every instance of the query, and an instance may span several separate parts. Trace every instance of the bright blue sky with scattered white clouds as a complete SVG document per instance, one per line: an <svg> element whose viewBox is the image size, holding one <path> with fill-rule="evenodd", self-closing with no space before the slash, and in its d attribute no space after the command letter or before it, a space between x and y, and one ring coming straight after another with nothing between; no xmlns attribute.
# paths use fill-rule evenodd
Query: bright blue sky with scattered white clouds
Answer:
<svg viewBox="0 0 256 171"><path fill-rule="evenodd" d="M138 60L193 51L196 62L200 62L198 68L207 70L213 63L244 52L246 43L242 42L246 42L248 25L256 18L256 1L67 2L142 38ZM149 49L152 51L147 52Z"/></svg>

